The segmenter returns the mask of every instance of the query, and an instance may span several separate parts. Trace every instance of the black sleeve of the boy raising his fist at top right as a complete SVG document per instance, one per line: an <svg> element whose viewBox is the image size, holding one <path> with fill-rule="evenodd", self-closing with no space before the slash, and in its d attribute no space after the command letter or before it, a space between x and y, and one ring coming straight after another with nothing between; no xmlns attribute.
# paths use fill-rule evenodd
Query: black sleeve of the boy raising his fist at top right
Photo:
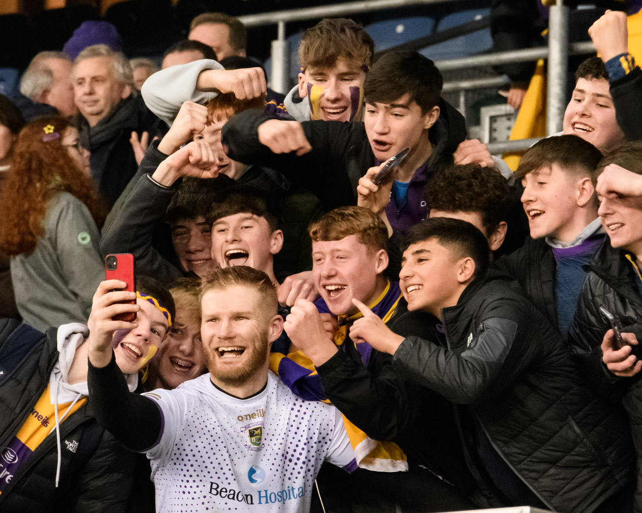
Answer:
<svg viewBox="0 0 642 513"><path fill-rule="evenodd" d="M611 83L615 117L627 140L642 139L642 70L636 67L629 74Z"/></svg>

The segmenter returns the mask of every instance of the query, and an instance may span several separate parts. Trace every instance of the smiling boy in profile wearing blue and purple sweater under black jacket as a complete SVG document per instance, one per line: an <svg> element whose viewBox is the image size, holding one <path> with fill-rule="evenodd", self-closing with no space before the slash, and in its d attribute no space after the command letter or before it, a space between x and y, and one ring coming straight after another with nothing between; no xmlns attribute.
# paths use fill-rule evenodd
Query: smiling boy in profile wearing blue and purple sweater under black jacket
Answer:
<svg viewBox="0 0 642 513"><path fill-rule="evenodd" d="M530 237L496 263L516 278L564 340L573 321L587 264L604 239L593 173L602 154L576 135L542 139L516 171Z"/></svg>

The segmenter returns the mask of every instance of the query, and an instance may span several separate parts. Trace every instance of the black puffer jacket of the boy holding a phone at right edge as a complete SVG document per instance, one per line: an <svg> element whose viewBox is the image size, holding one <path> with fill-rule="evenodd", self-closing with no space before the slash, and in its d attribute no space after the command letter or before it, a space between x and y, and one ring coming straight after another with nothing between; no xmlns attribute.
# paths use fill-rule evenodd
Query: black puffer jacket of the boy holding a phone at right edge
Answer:
<svg viewBox="0 0 642 513"><path fill-rule="evenodd" d="M615 378L602 365L602 339L611 325L600 314L600 306L616 315L622 332L635 333L642 341L642 299L635 288L633 265L625 251L611 247L605 240L602 248L587 266L589 273L577 303L575 321L569 330L571 351L589 373L593 385L612 398L621 398L629 414L629 423L638 455L638 485L634 508L642 512L642 382L634 378ZM638 346L639 347L639 346Z"/></svg>

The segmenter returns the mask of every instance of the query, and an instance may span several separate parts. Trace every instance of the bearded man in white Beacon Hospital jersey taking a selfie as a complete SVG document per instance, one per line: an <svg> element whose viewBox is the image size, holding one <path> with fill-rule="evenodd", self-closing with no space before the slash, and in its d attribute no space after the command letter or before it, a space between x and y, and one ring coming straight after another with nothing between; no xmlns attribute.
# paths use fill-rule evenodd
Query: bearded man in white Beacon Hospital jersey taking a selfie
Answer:
<svg viewBox="0 0 642 513"><path fill-rule="evenodd" d="M184 464L194 466L195 511L308 511L322 462L356 467L340 414L301 401L268 370L283 320L265 273L215 269L200 296L209 374L171 391L132 394L109 345L93 344L89 383L99 422L148 455L159 511L185 509Z"/></svg>

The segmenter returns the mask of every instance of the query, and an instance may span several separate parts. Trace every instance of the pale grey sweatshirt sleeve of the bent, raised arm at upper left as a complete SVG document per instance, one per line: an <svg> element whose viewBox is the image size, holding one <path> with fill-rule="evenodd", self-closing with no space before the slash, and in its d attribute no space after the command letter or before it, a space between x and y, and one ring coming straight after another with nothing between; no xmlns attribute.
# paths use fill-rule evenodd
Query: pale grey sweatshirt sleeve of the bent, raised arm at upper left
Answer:
<svg viewBox="0 0 642 513"><path fill-rule="evenodd" d="M145 105L168 126L174 122L180 106L186 101L204 105L218 95L216 91L196 89L196 80L206 69L224 69L211 59L195 60L155 72L143 84L141 94Z"/></svg>

